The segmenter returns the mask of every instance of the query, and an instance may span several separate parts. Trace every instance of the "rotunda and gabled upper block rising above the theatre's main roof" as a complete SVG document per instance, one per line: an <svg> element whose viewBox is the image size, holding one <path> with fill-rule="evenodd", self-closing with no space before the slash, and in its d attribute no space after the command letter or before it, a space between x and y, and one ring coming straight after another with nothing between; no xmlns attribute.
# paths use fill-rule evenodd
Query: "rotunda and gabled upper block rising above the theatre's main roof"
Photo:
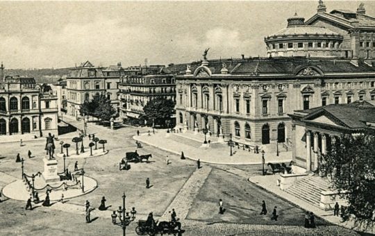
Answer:
<svg viewBox="0 0 375 236"><path fill-rule="evenodd" d="M295 15L283 30L265 37L268 56L375 57L375 18L360 3L356 11L326 12L319 1L317 14L304 22Z"/></svg>

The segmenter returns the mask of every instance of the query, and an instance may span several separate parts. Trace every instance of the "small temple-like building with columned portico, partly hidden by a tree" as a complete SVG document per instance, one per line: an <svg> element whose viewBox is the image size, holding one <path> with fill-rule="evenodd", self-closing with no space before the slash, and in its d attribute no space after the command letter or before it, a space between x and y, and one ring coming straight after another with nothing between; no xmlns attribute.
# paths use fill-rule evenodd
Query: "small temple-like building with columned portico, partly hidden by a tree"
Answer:
<svg viewBox="0 0 375 236"><path fill-rule="evenodd" d="M308 110L297 110L292 117L293 171L303 173L319 169L322 154L341 135L364 133L373 129L375 101L356 101Z"/></svg>

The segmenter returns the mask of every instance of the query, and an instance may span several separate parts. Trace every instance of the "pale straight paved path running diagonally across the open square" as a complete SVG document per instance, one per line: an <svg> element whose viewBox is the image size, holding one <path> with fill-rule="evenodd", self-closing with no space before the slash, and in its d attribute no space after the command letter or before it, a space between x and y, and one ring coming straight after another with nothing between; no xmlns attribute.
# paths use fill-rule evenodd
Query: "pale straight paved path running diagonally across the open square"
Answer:
<svg viewBox="0 0 375 236"><path fill-rule="evenodd" d="M202 167L201 169L197 169L197 171L194 171L194 173L180 189L178 194L174 197L172 203L169 204L167 210L165 210L159 221L169 221L169 212L172 212L173 208L176 210L178 218L185 219L189 213L190 208L192 207L194 199L197 197L199 190L203 186L211 170L211 167L206 166Z"/></svg>

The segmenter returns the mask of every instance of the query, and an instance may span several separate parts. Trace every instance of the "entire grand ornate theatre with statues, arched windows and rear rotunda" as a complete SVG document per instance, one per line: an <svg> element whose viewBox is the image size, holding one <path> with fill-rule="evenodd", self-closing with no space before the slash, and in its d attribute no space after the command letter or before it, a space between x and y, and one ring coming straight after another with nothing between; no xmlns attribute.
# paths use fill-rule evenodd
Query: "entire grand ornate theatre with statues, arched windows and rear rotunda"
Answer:
<svg viewBox="0 0 375 236"><path fill-rule="evenodd" d="M288 114L329 104L375 100L375 19L319 1L305 21L265 37L268 58L192 62L176 76L176 124L266 152L290 149ZM282 143L282 144L281 144Z"/></svg>

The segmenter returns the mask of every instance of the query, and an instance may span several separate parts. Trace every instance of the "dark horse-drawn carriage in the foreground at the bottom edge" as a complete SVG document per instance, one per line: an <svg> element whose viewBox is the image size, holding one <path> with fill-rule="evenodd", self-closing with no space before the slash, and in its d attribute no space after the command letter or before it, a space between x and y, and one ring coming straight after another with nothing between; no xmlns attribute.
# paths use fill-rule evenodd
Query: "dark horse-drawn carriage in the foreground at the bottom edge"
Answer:
<svg viewBox="0 0 375 236"><path fill-rule="evenodd" d="M181 230L181 223L178 221L160 221L155 226L151 226L147 221L139 220L135 233L138 235L176 235Z"/></svg>

